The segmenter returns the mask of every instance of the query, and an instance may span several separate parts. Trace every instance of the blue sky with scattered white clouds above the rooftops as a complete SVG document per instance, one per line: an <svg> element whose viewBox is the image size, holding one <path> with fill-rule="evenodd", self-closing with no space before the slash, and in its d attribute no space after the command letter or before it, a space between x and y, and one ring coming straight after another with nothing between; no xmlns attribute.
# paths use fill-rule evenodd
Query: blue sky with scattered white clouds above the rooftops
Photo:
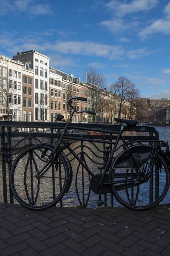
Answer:
<svg viewBox="0 0 170 256"><path fill-rule="evenodd" d="M35 49L83 80L89 65L170 98L170 0L0 0L0 54Z"/></svg>

